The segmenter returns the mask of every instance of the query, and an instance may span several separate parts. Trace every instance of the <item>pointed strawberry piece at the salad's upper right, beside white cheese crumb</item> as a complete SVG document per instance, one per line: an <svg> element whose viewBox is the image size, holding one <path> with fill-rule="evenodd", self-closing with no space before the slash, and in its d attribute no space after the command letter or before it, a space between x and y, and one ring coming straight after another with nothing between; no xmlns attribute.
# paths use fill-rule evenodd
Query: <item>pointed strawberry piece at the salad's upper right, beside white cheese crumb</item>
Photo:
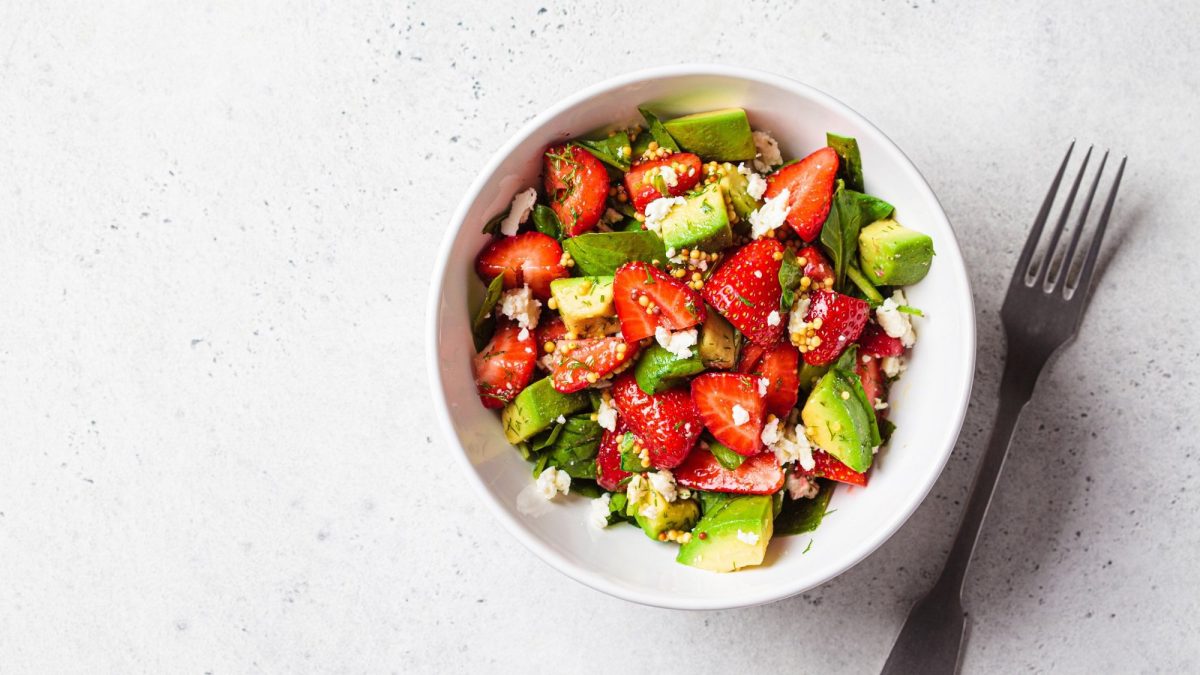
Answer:
<svg viewBox="0 0 1200 675"><path fill-rule="evenodd" d="M770 199L786 189L787 225L800 239L812 241L821 234L821 226L829 215L836 178L838 153L833 148L821 148L768 175L763 197Z"/></svg>

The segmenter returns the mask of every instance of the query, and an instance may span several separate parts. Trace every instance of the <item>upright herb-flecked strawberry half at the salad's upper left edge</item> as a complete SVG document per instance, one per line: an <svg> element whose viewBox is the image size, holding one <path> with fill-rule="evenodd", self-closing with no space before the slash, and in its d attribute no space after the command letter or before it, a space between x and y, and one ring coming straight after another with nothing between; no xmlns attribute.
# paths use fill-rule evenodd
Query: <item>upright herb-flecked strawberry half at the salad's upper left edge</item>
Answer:
<svg viewBox="0 0 1200 675"><path fill-rule="evenodd" d="M542 183L550 208L569 237L583 234L600 222L608 198L608 172L592 153L562 144L546 150Z"/></svg>

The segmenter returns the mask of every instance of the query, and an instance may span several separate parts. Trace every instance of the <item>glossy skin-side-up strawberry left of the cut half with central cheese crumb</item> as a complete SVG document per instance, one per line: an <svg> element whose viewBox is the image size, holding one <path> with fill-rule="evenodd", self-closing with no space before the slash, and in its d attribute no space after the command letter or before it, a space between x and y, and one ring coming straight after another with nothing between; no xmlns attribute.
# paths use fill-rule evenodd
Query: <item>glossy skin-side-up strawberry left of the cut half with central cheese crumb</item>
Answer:
<svg viewBox="0 0 1200 675"><path fill-rule="evenodd" d="M612 400L629 429L643 441L654 468L673 468L688 456L704 425L688 389L647 394L634 374L612 386Z"/></svg>

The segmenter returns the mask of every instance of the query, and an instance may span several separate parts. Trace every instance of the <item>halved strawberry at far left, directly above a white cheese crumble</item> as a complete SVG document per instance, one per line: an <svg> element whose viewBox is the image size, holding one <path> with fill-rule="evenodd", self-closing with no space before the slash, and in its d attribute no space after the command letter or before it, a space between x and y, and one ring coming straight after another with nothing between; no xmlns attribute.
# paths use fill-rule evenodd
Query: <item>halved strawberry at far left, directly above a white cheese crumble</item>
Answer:
<svg viewBox="0 0 1200 675"><path fill-rule="evenodd" d="M563 247L553 237L540 232L524 232L516 237L500 237L488 244L475 258L475 273L485 283L504 275L505 288L529 286L539 299L550 298L550 282L566 276L562 264Z"/></svg>

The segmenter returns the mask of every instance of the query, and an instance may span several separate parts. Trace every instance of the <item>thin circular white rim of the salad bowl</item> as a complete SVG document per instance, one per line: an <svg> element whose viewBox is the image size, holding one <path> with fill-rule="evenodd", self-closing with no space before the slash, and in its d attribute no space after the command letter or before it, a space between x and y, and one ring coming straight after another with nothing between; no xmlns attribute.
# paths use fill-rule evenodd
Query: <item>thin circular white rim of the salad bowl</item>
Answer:
<svg viewBox="0 0 1200 675"><path fill-rule="evenodd" d="M454 241L462 233L463 221L466 220L467 213L470 210L475 199L479 198L479 193L484 190L484 186L492 179L496 169L499 165L529 136L535 133L540 127L542 127L548 120L557 117L559 113L576 106L583 101L593 98L598 95L605 94L613 89L626 86L630 84L646 82L646 80L658 80L658 79L673 79L679 77L695 77L695 76L718 76L728 77L736 79L752 80L761 84L767 84L769 86L775 86L779 89L791 90L798 95L810 97L817 101L820 104L826 106L841 115L854 119L865 127L874 130L878 133L880 138L883 141L883 145L890 148L900 157L899 168L901 172L908 174L908 179L914 186L914 189L922 193L923 197L931 199L936 205L938 214L946 221L949 233L950 241L942 243L938 245L938 257L946 259L947 257L953 257L959 264L953 265L953 273L958 277L956 281L961 285L961 288L966 291L966 310L970 315L970 321L964 322L962 338L968 344L968 350L966 350L966 363L959 364L961 368L960 372L965 374L962 380L958 382L960 395L958 396L958 407L953 411L953 436L948 449L941 453L940 466L937 471L930 472L928 478L922 485L913 485L917 488L912 492L912 497L893 512L890 518L884 522L884 526L878 528L872 538L862 540L857 548L852 551L846 560L839 566L832 566L829 572L821 575L816 581L812 583L799 583L799 584L781 584L778 587L770 589L769 591L748 592L745 596L738 596L736 601L725 598L707 598L707 597L676 597L670 592L644 592L629 589L620 584L616 584L602 574L588 571L575 562L571 562L565 556L556 551L553 548L545 544L540 538L533 536L521 521L515 518L508 509L505 509L498 501L498 498L487 489L484 484L482 478L480 478L475 467L470 464L467 458L467 453L462 447L462 442L458 438L458 434L455 430L454 423L450 419L449 407L445 401L445 387L442 380L442 371L438 368L438 327L442 323L442 294L445 286L446 274L449 271L448 265L450 262L451 249L454 247ZM492 512L500 524L508 532L521 542L527 549L533 551L542 562L553 567L558 572L580 581L592 589L602 591L610 596L626 599L630 602L646 604L650 607L660 607L667 609L691 609L691 610L713 610L713 609L733 609L742 607L754 607L758 604L766 604L780 599L785 599L810 589L821 586L829 580L844 574L852 567L857 566L859 562L865 560L869 555L875 552L884 542L892 538L900 527L908 520L908 518L917 510L917 508L924 503L925 498L929 496L930 490L934 484L941 477L946 468L946 464L949 461L950 455L954 453L954 446L958 443L958 438L962 431L962 422L966 417L967 405L971 401L971 392L974 381L974 363L976 363L976 316L974 316L974 299L971 292L971 281L966 274L966 265L962 261L962 252L959 247L958 237L954 233L954 227L949 219L946 216L946 210L942 208L941 202L934 193L925 177L922 175L917 166L908 159L908 156L900 149L895 142L892 141L882 130L871 124L862 114L853 110L850 106L842 103L838 98L834 98L829 94L816 89L811 85L804 84L790 77L781 74L748 68L742 66L728 66L728 65L715 65L715 64L679 64L671 66L658 66L650 68L642 68L637 71L626 72L616 77L604 79L601 82L584 86L576 92L560 98L556 103L551 104L541 113L535 115L533 119L527 121L521 126L496 153L488 159L487 163L479 171L475 179L470 183L467 191L463 193L462 199L458 202L457 208L449 221L450 227L442 238L440 246L438 249L437 259L434 263L434 276L432 283L430 285L430 297L428 306L426 312L426 365L428 369L431 390L433 393L433 407L436 410L436 417L440 426L442 434L451 442L451 446L457 450L455 452L456 460L458 461L462 471L467 474L468 482L472 484L475 492L482 497L484 502L487 504L488 509ZM947 253L953 253L948 256Z"/></svg>

